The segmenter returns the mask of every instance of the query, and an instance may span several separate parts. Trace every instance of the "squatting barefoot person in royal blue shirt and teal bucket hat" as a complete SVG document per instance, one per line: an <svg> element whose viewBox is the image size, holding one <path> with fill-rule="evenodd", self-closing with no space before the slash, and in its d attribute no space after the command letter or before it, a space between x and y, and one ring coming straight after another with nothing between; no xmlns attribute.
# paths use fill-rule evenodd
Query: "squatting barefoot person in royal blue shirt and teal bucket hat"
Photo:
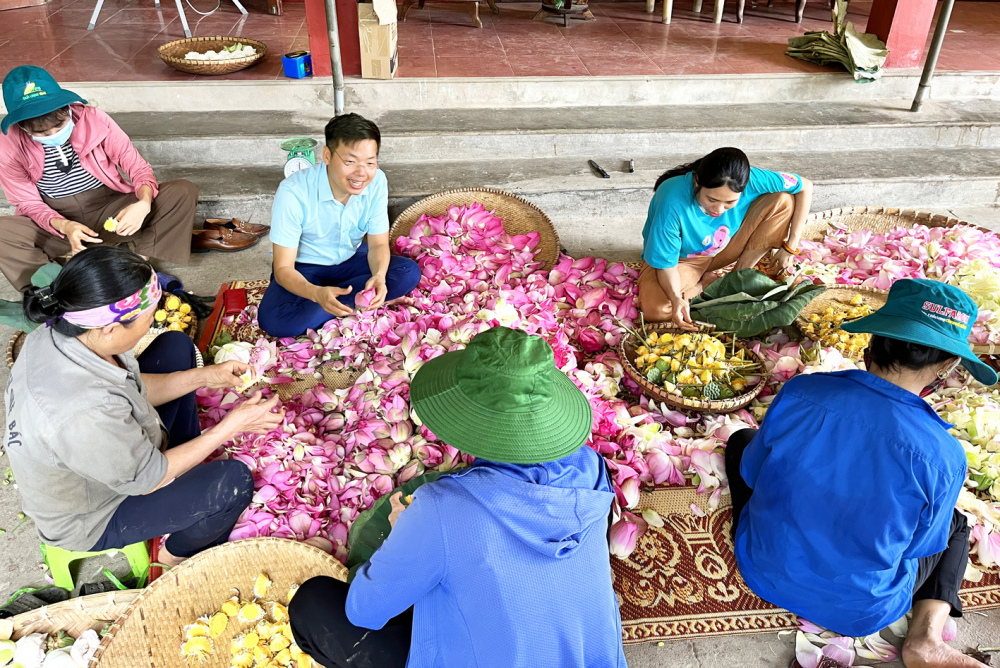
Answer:
<svg viewBox="0 0 1000 668"><path fill-rule="evenodd" d="M872 334L867 371L798 376L759 431L726 448L736 561L761 598L847 636L912 610L908 668L982 666L942 638L960 617L969 526L955 509L962 446L921 396L959 365L996 372L969 347L975 303L930 280L897 281L885 306L843 325Z"/></svg>

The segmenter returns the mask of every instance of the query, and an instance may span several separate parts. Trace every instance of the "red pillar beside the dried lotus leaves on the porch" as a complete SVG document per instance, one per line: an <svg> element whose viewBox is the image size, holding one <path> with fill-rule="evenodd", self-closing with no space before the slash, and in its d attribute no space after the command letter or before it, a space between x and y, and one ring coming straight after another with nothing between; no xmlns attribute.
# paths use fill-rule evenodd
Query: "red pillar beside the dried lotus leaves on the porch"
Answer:
<svg viewBox="0 0 1000 668"><path fill-rule="evenodd" d="M936 0L874 0L866 32L885 42L886 67L920 66L936 5Z"/></svg>

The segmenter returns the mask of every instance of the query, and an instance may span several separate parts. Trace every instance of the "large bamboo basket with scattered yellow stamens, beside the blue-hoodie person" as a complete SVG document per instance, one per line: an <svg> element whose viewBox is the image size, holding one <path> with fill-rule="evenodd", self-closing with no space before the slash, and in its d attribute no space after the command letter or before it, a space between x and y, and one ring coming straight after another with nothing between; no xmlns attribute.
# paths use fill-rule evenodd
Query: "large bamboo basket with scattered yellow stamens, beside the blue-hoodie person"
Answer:
<svg viewBox="0 0 1000 668"><path fill-rule="evenodd" d="M190 668L181 657L184 627L215 613L238 589L252 598L260 573L273 582L267 600L287 603L292 585L328 575L347 580L347 569L323 550L282 538L251 538L206 550L167 571L129 607L101 641L90 668ZM200 668L228 668L229 641L252 625L230 620Z"/></svg>

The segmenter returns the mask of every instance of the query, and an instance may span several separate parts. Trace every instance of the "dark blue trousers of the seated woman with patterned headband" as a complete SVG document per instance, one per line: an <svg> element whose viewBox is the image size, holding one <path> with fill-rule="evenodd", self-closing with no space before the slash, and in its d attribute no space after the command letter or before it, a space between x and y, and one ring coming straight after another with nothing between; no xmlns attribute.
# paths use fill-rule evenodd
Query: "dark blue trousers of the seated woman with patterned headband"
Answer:
<svg viewBox="0 0 1000 668"><path fill-rule="evenodd" d="M161 334L139 356L143 373L185 371L195 364L194 344L183 332ZM201 434L194 392L158 406L156 412L169 432L168 448ZM169 533L167 550L191 557L225 543L252 497L253 476L245 464L200 464L155 492L126 498L91 549L125 547Z"/></svg>

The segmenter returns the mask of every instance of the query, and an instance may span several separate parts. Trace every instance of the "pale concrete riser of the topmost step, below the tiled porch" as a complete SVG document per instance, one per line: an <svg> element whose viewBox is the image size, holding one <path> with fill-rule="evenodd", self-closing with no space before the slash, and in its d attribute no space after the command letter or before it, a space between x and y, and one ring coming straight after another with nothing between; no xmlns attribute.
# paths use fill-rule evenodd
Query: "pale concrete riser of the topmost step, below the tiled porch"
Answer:
<svg viewBox="0 0 1000 668"><path fill-rule="evenodd" d="M859 86L846 72L632 77L395 79L349 77L348 111L562 106L869 102L913 99L919 70L889 70ZM73 90L105 111L220 111L252 108L332 115L331 79L298 81L80 82ZM934 100L1000 99L1000 72L939 72ZM3 111L0 103L0 112Z"/></svg>

